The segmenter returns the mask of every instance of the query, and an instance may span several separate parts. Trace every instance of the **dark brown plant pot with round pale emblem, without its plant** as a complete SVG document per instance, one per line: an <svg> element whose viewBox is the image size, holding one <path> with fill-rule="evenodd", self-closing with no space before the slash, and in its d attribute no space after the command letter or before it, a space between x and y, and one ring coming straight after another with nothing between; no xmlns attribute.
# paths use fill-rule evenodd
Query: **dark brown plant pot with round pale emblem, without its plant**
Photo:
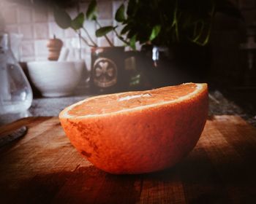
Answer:
<svg viewBox="0 0 256 204"><path fill-rule="evenodd" d="M94 47L91 49L92 93L116 93L131 90L135 74L134 59L138 52L125 52L124 47Z"/></svg>

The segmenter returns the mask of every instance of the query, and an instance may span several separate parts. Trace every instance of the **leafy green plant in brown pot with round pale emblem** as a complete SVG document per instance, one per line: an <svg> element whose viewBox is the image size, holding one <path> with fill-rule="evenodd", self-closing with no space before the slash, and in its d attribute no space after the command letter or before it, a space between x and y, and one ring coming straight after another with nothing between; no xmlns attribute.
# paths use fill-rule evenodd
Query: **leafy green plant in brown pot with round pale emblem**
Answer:
<svg viewBox="0 0 256 204"><path fill-rule="evenodd" d="M61 28L72 28L83 42L91 47L91 90L97 93L110 93L119 90L126 90L129 84L136 85L138 79L129 80L131 71L124 69L125 60L132 55L132 53L124 52L124 46L115 47L110 41L107 34L110 31L115 31L112 26L102 27L97 20L97 1L90 2L89 7L84 14L78 13L75 18L71 18L64 9L55 7L54 17L56 23ZM99 27L96 31L96 36L104 36L109 47L99 47L97 42L91 38L86 29L86 20L94 20ZM81 36L80 31L83 30L86 34ZM117 34L117 32L116 32ZM118 35L118 34L117 34ZM119 35L118 35L119 36ZM119 38L127 44L122 36ZM137 83L138 84L138 83Z"/></svg>

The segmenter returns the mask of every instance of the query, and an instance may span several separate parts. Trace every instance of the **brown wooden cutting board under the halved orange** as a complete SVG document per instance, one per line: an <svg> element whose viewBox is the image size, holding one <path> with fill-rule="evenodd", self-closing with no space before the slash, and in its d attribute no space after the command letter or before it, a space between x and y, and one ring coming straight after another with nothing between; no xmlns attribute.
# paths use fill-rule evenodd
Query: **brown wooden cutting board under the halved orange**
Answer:
<svg viewBox="0 0 256 204"><path fill-rule="evenodd" d="M236 116L208 119L195 149L169 170L116 176L69 143L56 117L30 117L0 149L0 203L256 203L256 129Z"/></svg>

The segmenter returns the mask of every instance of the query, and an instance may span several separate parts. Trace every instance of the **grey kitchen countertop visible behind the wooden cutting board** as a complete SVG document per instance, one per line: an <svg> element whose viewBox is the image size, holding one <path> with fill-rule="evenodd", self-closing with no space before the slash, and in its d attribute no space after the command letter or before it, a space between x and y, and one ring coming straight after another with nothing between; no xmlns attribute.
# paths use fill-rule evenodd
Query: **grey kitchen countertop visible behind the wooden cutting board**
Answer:
<svg viewBox="0 0 256 204"><path fill-rule="evenodd" d="M34 98L29 111L20 114L8 114L0 118L0 125L13 122L22 117L53 117L72 103L89 98L92 95L86 93L76 93L76 95L61 98ZM239 115L250 124L256 126L256 117L251 117L233 101L227 100L218 90L209 93L209 115Z"/></svg>

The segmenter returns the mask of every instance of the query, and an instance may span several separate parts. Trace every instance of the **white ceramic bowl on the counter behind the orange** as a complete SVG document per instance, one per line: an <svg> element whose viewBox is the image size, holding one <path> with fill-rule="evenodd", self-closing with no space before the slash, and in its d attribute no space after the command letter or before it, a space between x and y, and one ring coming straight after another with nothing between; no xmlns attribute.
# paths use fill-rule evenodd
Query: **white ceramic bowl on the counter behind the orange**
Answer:
<svg viewBox="0 0 256 204"><path fill-rule="evenodd" d="M35 87L46 97L72 94L83 73L85 62L34 61L28 63L29 76Z"/></svg>

